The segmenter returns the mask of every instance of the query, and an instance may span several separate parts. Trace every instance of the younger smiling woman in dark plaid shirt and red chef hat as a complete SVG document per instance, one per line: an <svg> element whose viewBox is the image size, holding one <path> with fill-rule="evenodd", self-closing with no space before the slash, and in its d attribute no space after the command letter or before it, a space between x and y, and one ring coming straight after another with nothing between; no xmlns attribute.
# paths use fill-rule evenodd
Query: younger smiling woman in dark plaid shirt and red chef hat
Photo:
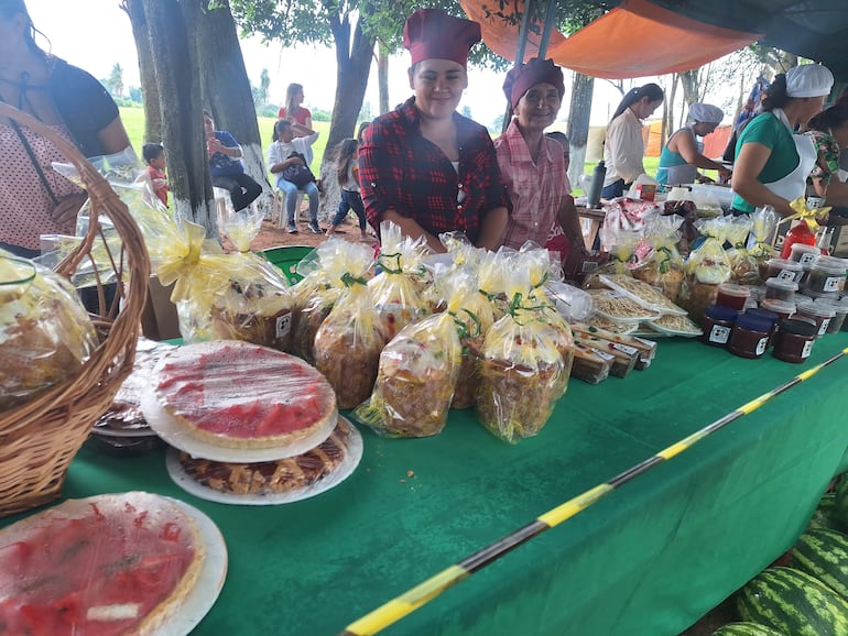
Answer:
<svg viewBox="0 0 848 636"><path fill-rule="evenodd" d="M487 130L456 112L468 87L468 51L480 25L436 9L410 15L414 96L378 117L359 151L366 215L379 231L393 221L405 235L424 237L434 252L438 234L464 231L477 246L496 249L507 226L507 195Z"/></svg>

